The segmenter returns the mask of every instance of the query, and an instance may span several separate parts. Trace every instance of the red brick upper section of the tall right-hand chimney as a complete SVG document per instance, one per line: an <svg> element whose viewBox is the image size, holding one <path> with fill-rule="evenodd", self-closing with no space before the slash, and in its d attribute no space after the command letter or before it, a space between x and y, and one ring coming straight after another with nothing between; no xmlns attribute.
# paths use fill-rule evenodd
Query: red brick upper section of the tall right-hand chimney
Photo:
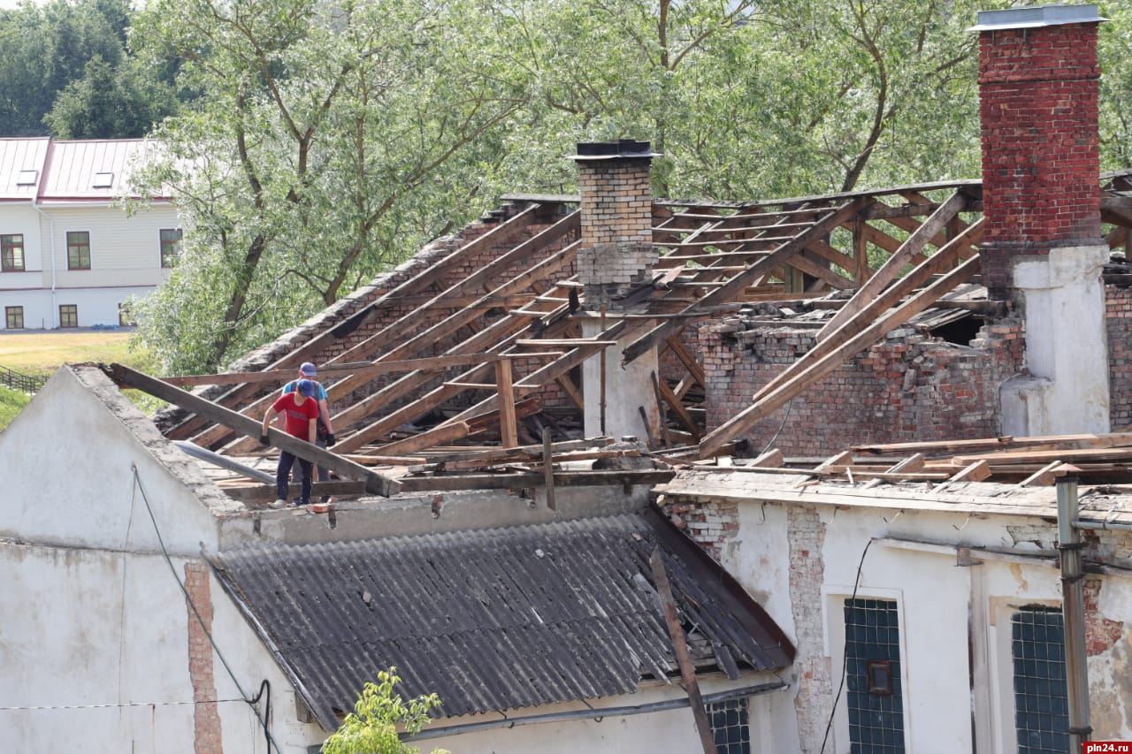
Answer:
<svg viewBox="0 0 1132 754"><path fill-rule="evenodd" d="M1100 239L1097 25L985 31L983 280L1011 285L1010 258Z"/></svg>

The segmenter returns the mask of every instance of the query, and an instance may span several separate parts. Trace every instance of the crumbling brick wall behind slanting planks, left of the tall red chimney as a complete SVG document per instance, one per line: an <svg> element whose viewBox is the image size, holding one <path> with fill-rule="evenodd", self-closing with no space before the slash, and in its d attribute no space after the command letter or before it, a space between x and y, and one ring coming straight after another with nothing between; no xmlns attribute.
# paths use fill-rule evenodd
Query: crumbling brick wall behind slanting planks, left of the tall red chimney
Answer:
<svg viewBox="0 0 1132 754"><path fill-rule="evenodd" d="M751 405L814 337L812 329L748 329L739 318L702 325L709 429ZM993 437L1000 432L998 387L1022 367L1021 324L1013 320L985 325L969 345L901 328L741 437L754 453L772 445L787 455L822 457L854 444Z"/></svg>

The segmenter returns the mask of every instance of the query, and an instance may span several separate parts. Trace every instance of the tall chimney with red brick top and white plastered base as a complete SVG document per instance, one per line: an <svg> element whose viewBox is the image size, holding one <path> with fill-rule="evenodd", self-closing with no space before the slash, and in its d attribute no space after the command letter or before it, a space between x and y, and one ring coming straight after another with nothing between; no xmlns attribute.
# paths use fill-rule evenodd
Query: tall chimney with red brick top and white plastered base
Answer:
<svg viewBox="0 0 1132 754"><path fill-rule="evenodd" d="M1106 432L1096 6L979 12L983 282L1024 318L1028 374L1000 392L1007 435Z"/></svg>

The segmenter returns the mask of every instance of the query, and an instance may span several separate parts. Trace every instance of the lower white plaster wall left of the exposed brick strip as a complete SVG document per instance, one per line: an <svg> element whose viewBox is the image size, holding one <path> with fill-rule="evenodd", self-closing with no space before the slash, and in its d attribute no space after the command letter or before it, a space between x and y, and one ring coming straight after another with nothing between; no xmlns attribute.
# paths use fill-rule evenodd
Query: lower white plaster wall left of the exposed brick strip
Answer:
<svg viewBox="0 0 1132 754"><path fill-rule="evenodd" d="M5 751L192 752L185 599L162 558L0 543L0 580Z"/></svg>

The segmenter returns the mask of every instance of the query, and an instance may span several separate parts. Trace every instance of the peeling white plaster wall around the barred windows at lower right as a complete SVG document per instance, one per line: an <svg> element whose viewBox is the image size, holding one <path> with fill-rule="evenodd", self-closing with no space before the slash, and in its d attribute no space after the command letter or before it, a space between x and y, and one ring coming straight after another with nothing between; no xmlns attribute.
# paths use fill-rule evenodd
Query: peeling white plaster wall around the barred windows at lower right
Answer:
<svg viewBox="0 0 1132 754"><path fill-rule="evenodd" d="M739 504L736 541L723 550L723 565L766 609L791 640L798 634L790 602L789 505ZM1036 517L972 516L967 513L917 513L899 509L818 505L825 528L825 659L830 675L841 675L843 600L852 592L857 567L872 538L917 540L945 546L943 552L916 545L883 541L869 546L858 597L894 599L900 609L908 751L1009 752L1013 731L1010 615L1031 603L1060 606L1056 567L1044 563L983 559L959 566L952 546L1052 551L1056 525ZM1132 538L1132 534L1127 534ZM1125 547L1125 550L1127 548ZM1129 563L1117 563L1129 567ZM1115 645L1089 658L1090 713L1106 739L1132 739L1132 579L1103 580L1100 614L1124 622ZM969 640L970 637L970 640ZM969 660L968 642L974 648ZM801 658L798 659L800 661ZM974 661L976 684L970 688ZM798 666L796 666L798 667ZM792 684L804 683L791 671ZM971 738L976 718L978 748ZM834 725L830 752L848 752L844 701ZM816 752L821 740L801 742Z"/></svg>

